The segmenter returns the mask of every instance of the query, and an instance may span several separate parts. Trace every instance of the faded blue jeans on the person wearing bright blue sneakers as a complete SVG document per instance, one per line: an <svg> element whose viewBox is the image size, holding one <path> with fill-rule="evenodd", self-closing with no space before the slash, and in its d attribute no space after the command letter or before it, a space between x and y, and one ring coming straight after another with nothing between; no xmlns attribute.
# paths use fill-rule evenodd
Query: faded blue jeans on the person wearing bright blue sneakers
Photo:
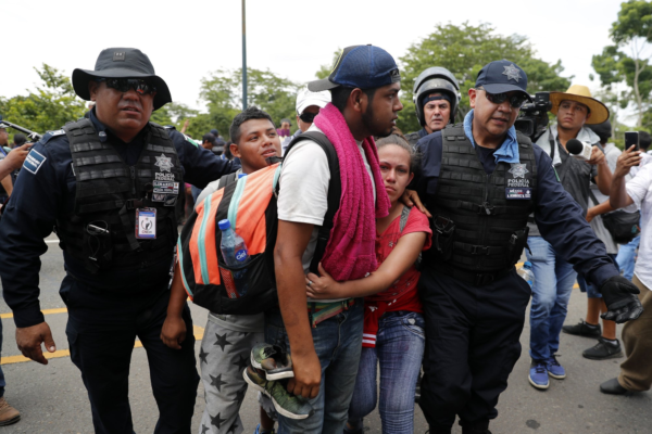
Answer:
<svg viewBox="0 0 652 434"><path fill-rule="evenodd" d="M526 250L527 259L535 272L530 356L535 360L546 360L560 348L560 333L577 273L541 237L530 237L527 243L531 250L531 253Z"/></svg>

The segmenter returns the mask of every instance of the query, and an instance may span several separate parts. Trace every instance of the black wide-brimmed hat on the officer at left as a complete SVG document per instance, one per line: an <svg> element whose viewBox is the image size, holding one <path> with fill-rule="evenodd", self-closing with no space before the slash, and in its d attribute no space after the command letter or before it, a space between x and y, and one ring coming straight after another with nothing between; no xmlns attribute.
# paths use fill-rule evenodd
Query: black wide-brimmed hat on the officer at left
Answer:
<svg viewBox="0 0 652 434"><path fill-rule="evenodd" d="M83 100L90 100L88 82L93 78L147 78L156 88L154 110L172 102L167 85L155 75L147 54L136 48L108 48L98 56L93 71L73 71L73 88Z"/></svg>

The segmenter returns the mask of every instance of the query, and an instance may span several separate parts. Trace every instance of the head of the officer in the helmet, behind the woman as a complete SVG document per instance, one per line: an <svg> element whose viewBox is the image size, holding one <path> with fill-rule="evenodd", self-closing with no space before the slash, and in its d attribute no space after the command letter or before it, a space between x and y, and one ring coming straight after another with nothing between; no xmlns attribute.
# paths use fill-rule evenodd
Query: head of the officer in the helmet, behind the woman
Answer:
<svg viewBox="0 0 652 434"><path fill-rule="evenodd" d="M446 128L454 123L455 110L460 104L460 85L444 67L429 67L414 80L412 90L416 117L422 125L421 131L405 136L413 146L418 139Z"/></svg>

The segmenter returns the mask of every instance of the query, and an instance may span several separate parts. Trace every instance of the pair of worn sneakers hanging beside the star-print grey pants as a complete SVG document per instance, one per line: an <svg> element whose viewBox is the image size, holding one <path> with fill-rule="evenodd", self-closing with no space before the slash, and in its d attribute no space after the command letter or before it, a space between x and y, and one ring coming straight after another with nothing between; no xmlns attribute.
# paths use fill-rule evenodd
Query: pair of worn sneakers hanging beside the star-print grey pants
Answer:
<svg viewBox="0 0 652 434"><path fill-rule="evenodd" d="M272 399L274 408L289 419L306 419L314 414L312 406L287 390L294 376L290 355L278 345L258 344L251 350L251 365L242 372L244 381Z"/></svg>

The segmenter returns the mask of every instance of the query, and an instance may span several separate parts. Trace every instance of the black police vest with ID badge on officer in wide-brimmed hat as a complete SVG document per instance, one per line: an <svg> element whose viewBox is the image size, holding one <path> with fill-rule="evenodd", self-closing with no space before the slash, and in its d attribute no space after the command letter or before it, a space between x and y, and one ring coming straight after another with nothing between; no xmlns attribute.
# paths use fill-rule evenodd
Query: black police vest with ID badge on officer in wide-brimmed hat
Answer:
<svg viewBox="0 0 652 434"><path fill-rule="evenodd" d="M136 269L171 256L181 164L165 129L149 123L138 162L128 166L89 119L63 127L76 177L72 215L57 221L62 247L91 272ZM104 136L105 138L105 136ZM156 209L156 235L136 239L136 208Z"/></svg>

